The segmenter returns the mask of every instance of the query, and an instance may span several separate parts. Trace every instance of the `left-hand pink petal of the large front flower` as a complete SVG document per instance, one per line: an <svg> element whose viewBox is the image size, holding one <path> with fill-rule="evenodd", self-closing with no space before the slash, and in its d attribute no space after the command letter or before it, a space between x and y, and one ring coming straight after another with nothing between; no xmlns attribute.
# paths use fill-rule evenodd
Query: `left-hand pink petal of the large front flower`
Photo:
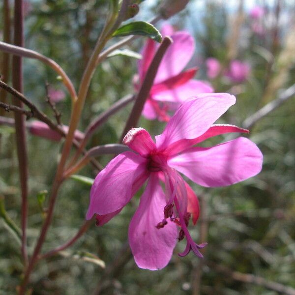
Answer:
<svg viewBox="0 0 295 295"><path fill-rule="evenodd" d="M86 219L124 207L148 177L147 159L134 152L119 154L94 180Z"/></svg>

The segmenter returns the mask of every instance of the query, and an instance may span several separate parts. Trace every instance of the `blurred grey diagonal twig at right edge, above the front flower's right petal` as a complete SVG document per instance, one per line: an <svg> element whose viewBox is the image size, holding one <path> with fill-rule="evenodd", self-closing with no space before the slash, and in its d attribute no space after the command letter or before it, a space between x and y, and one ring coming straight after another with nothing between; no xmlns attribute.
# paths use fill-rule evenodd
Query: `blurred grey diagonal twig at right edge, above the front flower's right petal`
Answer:
<svg viewBox="0 0 295 295"><path fill-rule="evenodd" d="M256 113L246 118L242 123L243 128L249 129L255 123L257 123L262 118L266 117L270 112L277 109L280 105L282 105L289 98L294 97L295 95L295 84L290 88L286 89L282 92L277 99L272 100L268 104L266 104L263 108L258 110Z"/></svg>

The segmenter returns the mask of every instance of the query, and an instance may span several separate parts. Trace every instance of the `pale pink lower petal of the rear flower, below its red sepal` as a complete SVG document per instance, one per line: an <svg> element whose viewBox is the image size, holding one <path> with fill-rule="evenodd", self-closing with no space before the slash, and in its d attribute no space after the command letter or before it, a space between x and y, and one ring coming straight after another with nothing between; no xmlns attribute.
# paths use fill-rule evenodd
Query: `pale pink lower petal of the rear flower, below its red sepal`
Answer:
<svg viewBox="0 0 295 295"><path fill-rule="evenodd" d="M199 80L190 80L174 89L157 92L154 95L151 94L151 97L152 99L158 101L183 103L187 99L200 93L211 92L213 92L213 88L209 85L209 83Z"/></svg>

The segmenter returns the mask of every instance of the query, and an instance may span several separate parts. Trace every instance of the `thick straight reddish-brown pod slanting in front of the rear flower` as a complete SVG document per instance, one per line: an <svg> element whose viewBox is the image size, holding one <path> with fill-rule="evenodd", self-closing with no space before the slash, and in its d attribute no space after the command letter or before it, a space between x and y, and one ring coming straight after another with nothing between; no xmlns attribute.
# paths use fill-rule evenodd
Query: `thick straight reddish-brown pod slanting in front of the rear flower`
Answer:
<svg viewBox="0 0 295 295"><path fill-rule="evenodd" d="M138 92L135 104L133 106L133 109L130 113L130 116L127 120L127 123L125 125L125 128L122 132L120 142L122 142L124 136L126 133L132 128L137 125L137 122L140 118L140 115L143 111L144 105L146 103L146 100L148 98L149 91L152 87L153 81L156 77L159 65L161 60L163 59L168 47L172 44L172 39L170 37L165 37L163 39L163 42L161 43L160 47L158 48L155 56L153 57L149 67L147 74L145 76L145 79L143 81L143 84L141 85L141 88Z"/></svg>

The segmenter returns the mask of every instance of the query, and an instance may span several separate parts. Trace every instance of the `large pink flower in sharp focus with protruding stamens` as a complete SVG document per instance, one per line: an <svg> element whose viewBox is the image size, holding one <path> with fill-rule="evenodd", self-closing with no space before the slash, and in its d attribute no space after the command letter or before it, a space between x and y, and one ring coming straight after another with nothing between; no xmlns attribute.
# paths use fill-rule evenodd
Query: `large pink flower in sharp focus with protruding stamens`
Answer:
<svg viewBox="0 0 295 295"><path fill-rule="evenodd" d="M128 234L139 267L165 267L177 238L186 238L180 256L192 250L202 257L199 249L206 243L196 244L187 228L191 215L193 223L198 219L198 199L179 172L200 185L218 187L261 171L262 153L247 138L210 148L193 147L212 136L248 132L234 125L212 125L235 102L235 96L227 93L197 95L179 107L155 143L145 129L132 128L123 143L133 151L119 154L96 176L86 218L98 214L98 225L118 214L148 179Z"/></svg>

